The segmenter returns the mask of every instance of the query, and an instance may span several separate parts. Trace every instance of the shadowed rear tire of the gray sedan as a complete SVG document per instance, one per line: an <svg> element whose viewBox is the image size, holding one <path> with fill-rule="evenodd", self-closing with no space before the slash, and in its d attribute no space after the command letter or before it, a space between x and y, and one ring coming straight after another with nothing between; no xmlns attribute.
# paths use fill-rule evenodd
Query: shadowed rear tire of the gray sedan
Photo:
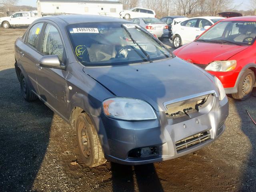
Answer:
<svg viewBox="0 0 256 192"><path fill-rule="evenodd" d="M26 101L34 101L37 99L37 96L31 91L28 82L22 73L20 73L20 92Z"/></svg>

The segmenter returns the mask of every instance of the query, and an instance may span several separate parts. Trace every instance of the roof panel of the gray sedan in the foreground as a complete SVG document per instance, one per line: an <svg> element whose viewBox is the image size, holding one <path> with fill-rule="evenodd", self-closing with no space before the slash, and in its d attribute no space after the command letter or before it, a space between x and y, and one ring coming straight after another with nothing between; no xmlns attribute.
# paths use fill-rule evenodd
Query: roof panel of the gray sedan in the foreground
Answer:
<svg viewBox="0 0 256 192"><path fill-rule="evenodd" d="M39 20L51 20L55 23L66 23L66 25L76 24L76 23L92 23L92 22L130 22L128 20L109 17L109 16L101 16L101 15L56 15L56 16L47 16L39 18Z"/></svg>

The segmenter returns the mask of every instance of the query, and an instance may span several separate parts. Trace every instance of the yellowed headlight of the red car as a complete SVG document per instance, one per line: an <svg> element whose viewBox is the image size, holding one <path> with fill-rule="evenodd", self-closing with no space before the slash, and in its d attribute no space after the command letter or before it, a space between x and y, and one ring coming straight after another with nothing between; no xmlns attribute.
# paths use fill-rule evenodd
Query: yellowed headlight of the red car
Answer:
<svg viewBox="0 0 256 192"><path fill-rule="evenodd" d="M236 60L214 61L211 62L205 70L208 71L231 71L236 68Z"/></svg>

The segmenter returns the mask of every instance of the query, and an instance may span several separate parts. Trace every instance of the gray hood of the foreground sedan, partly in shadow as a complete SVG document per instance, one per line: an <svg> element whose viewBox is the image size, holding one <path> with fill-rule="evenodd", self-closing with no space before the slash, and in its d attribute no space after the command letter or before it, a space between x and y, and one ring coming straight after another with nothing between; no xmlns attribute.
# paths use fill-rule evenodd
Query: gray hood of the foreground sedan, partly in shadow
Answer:
<svg viewBox="0 0 256 192"><path fill-rule="evenodd" d="M216 90L210 74L178 57L83 71L116 96L145 100L159 111L165 111L166 101Z"/></svg>

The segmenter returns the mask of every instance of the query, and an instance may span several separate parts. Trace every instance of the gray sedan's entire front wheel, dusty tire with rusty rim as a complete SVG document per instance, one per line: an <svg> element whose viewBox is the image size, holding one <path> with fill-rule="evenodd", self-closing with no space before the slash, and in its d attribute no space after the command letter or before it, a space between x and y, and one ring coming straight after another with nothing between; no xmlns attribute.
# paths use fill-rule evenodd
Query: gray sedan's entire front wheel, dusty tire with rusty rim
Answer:
<svg viewBox="0 0 256 192"><path fill-rule="evenodd" d="M76 119L76 137L80 156L88 167L96 167L106 162L98 134L86 113Z"/></svg>

